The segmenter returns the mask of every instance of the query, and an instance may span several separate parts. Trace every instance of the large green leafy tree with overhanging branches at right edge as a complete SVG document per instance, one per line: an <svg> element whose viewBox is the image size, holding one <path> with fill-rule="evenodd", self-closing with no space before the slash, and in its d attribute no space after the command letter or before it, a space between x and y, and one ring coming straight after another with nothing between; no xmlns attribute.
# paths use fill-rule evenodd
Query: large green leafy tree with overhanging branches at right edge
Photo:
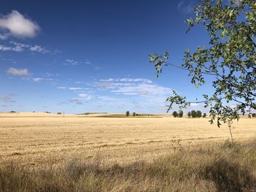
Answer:
<svg viewBox="0 0 256 192"><path fill-rule="evenodd" d="M190 103L203 103L209 108L211 123L217 118L228 123L231 133L233 120L239 119L239 113L251 113L256 110L256 2L255 0L201 0L194 9L196 17L187 19L188 31L197 24L202 24L209 35L207 46L197 47L194 52L185 50L184 63L171 64L169 54L150 55L150 62L157 69L157 77L163 66L174 66L187 70L191 82L196 87L206 82L206 76L213 77L212 95L203 95L202 101L187 101L173 91L167 110L178 104L186 108ZM211 78L212 79L212 78ZM231 107L229 104L236 104ZM232 137L233 139L233 137Z"/></svg>

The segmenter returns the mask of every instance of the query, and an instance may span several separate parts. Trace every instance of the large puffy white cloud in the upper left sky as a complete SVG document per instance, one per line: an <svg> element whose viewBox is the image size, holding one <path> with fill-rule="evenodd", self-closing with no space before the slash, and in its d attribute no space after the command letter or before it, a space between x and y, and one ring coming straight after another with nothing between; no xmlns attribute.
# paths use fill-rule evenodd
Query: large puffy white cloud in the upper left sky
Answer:
<svg viewBox="0 0 256 192"><path fill-rule="evenodd" d="M15 37L29 38L35 37L40 29L37 23L24 17L16 10L0 18L0 28Z"/></svg>

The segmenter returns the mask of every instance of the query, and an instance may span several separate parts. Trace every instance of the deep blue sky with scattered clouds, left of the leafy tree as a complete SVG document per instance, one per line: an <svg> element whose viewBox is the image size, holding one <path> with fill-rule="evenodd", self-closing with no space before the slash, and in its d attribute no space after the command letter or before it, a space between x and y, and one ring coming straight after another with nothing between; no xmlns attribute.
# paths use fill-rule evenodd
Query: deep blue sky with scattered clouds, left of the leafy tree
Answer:
<svg viewBox="0 0 256 192"><path fill-rule="evenodd" d="M184 20L197 1L1 1L0 111L166 112L171 90L189 100L210 93L187 72L157 79L148 54L207 45ZM193 107L192 107L193 108ZM195 109L200 106L194 106Z"/></svg>

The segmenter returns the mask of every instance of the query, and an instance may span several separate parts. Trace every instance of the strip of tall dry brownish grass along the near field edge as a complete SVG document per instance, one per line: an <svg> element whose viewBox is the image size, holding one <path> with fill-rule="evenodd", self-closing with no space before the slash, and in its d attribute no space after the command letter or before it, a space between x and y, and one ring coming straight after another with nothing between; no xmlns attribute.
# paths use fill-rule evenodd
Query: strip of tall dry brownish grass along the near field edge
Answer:
<svg viewBox="0 0 256 192"><path fill-rule="evenodd" d="M5 162L0 191L256 191L256 142L180 147L125 166L99 159L43 169Z"/></svg>

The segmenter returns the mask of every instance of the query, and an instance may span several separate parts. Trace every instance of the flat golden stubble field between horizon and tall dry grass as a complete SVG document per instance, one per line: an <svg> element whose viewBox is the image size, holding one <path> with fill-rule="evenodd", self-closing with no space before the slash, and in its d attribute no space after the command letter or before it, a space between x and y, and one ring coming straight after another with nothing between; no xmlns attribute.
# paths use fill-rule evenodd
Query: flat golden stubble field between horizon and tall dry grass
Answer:
<svg viewBox="0 0 256 192"><path fill-rule="evenodd" d="M230 137L226 126L210 125L208 118L101 118L90 115L44 113L0 114L0 160L40 166L73 158L101 158L130 163L171 153L176 145L217 142ZM233 137L256 136L256 119L234 123Z"/></svg>

